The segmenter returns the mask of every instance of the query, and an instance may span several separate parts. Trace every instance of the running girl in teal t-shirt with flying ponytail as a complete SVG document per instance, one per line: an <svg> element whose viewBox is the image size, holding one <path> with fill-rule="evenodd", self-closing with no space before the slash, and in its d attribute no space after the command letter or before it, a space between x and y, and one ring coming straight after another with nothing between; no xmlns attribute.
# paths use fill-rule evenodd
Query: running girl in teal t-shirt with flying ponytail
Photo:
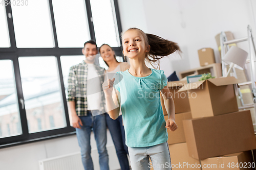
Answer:
<svg viewBox="0 0 256 170"><path fill-rule="evenodd" d="M102 84L106 109L110 117L116 119L121 106L126 145L133 170L150 169L152 165L149 158L154 170L171 169L166 128L171 131L178 128L174 101L164 71L146 67L145 59L155 62L163 56L180 51L180 48L177 43L145 34L137 28L122 34L122 46L131 67L117 72L112 80ZM160 91L168 112L166 122L160 103Z"/></svg>

